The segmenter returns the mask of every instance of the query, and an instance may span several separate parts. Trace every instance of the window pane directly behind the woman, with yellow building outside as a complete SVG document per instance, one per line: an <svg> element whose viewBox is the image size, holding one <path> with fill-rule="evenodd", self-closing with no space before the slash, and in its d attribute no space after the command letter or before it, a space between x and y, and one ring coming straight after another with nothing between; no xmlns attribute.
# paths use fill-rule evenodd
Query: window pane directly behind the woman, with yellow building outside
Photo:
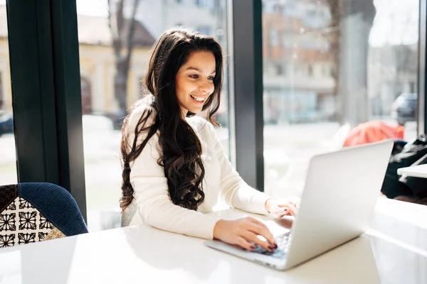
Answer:
<svg viewBox="0 0 427 284"><path fill-rule="evenodd" d="M226 43L226 0L113 0L123 3L125 25L119 35L127 35L135 11L135 33L131 40L132 56L128 68L120 69L120 60L127 55L127 37L122 39L122 58L112 45L113 34L108 25L109 7L105 0L77 0L78 36L80 42L80 76L83 110L83 143L85 147L86 198L90 231L120 226L120 118L128 107L141 97L147 72L149 51L159 35L170 26L188 26ZM137 3L136 10L133 3ZM224 54L225 55L225 54ZM116 70L122 70L118 73ZM120 77L122 76L122 77ZM227 78L227 74L224 74ZM125 87L120 87L125 78ZM116 83L115 83L116 82ZM223 126L218 136L228 151L228 94L223 87L222 104L216 119ZM201 114L203 115L203 114Z"/></svg>

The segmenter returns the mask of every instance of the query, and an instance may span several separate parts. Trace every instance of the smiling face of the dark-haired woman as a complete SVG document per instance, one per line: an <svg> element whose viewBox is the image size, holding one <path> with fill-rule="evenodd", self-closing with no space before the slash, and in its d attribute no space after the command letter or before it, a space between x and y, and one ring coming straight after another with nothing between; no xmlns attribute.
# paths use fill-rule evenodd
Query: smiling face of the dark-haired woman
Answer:
<svg viewBox="0 0 427 284"><path fill-rule="evenodd" d="M176 73L175 94L183 117L188 111L199 113L214 92L215 63L210 51L196 51Z"/></svg>

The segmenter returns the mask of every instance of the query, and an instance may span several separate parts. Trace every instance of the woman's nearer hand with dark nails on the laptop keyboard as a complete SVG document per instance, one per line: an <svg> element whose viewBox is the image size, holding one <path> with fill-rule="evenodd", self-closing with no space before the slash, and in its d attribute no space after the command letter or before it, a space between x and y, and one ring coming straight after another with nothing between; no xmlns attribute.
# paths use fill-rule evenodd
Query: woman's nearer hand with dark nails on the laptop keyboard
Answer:
<svg viewBox="0 0 427 284"><path fill-rule="evenodd" d="M267 241L263 241L258 236L263 236ZM228 244L236 244L248 251L253 251L255 244L268 251L274 251L277 247L273 234L270 233L267 226L252 217L219 220L214 227L214 239L219 239Z"/></svg>

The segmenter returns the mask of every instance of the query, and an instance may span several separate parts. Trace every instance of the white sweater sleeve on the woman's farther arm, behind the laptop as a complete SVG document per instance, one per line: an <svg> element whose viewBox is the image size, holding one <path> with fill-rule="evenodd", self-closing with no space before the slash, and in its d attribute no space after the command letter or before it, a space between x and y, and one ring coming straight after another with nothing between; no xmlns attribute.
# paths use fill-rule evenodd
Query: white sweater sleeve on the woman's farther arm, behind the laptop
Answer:
<svg viewBox="0 0 427 284"><path fill-rule="evenodd" d="M271 197L255 190L241 178L228 160L223 146L218 140L214 126L207 122L206 127L212 138L211 143L214 145L216 156L221 166L220 194L223 200L237 209L256 214L268 214L265 209L265 202Z"/></svg>

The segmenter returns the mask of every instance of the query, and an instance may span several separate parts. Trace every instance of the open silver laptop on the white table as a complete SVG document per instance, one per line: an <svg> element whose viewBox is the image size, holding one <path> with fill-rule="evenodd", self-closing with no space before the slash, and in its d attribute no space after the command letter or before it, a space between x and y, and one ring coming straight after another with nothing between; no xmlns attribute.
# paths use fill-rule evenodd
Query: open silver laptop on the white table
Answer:
<svg viewBox="0 0 427 284"><path fill-rule="evenodd" d="M218 240L204 244L285 270L356 238L369 228L392 148L387 140L312 157L291 229L265 222L278 244L273 253L258 245L246 251Z"/></svg>

